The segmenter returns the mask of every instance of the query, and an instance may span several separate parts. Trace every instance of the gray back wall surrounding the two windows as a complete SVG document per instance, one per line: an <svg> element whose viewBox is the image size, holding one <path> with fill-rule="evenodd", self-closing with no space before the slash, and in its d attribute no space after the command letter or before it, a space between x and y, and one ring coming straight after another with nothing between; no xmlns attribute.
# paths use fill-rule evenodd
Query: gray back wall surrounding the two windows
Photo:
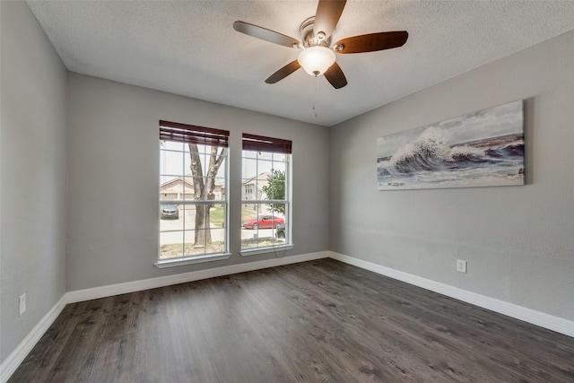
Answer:
<svg viewBox="0 0 574 383"><path fill-rule="evenodd" d="M68 94L68 291L275 257L239 255L243 132L293 141L295 247L287 256L328 249L326 127L82 74L69 74ZM160 119L230 130L230 259L166 269L153 265Z"/></svg>

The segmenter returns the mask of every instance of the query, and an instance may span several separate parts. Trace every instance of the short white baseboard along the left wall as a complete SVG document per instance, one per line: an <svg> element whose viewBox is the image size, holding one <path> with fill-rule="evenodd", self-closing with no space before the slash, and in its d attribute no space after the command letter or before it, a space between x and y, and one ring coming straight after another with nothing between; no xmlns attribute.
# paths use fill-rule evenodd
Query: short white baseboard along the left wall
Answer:
<svg viewBox="0 0 574 383"><path fill-rule="evenodd" d="M66 303L66 294L64 294L52 309L40 319L38 324L32 328L30 333L26 335L14 351L2 362L0 365L0 382L5 383L10 379L14 371L20 366L20 363L22 363L24 358L28 356L28 353L30 353L32 348L38 343L39 338L48 331L49 326L52 326L57 316L60 315L65 308Z"/></svg>

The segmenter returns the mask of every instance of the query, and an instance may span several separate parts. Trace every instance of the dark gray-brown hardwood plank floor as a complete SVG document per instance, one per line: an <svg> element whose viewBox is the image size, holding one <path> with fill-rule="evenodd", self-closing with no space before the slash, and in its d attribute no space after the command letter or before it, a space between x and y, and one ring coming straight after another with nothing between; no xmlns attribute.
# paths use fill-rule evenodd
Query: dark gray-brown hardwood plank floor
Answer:
<svg viewBox="0 0 574 383"><path fill-rule="evenodd" d="M70 304L10 382L574 382L574 338L322 259Z"/></svg>

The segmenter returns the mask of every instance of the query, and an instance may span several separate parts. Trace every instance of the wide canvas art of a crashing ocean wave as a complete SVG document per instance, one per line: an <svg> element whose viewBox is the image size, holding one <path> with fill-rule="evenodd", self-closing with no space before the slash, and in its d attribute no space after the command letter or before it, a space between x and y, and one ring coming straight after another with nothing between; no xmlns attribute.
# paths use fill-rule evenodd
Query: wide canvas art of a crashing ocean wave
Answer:
<svg viewBox="0 0 574 383"><path fill-rule="evenodd" d="M517 100L377 140L378 190L524 185Z"/></svg>

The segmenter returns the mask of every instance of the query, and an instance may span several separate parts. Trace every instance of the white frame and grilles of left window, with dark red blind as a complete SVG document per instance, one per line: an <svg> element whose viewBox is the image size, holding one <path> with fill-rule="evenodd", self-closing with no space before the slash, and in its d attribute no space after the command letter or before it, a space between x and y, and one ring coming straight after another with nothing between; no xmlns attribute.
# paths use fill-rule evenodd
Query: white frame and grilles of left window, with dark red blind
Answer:
<svg viewBox="0 0 574 383"><path fill-rule="evenodd" d="M158 222L160 222L159 228L158 228L158 256L157 256L157 262L154 263L154 265L158 268L163 268L163 267L171 267L171 266L177 266L177 265L190 265L190 264L196 264L196 263L201 263L201 262L209 262L209 261L216 261L216 260L221 260L221 259L227 259L231 256L230 253L230 198L229 198L229 136L230 136L230 132L227 130L221 130L221 129L213 129L210 127L204 127L204 126L192 126L192 125L187 125L187 124L180 124L180 123L175 123L175 122L170 122L170 121L164 121L164 120L160 120L160 142L165 142L165 141L170 141L170 142L175 142L175 143L181 143L182 145L186 145L186 144L198 144L198 145L203 145L204 146L204 152L200 152L199 155L203 155L204 157L204 161L205 159L209 158L209 154L208 154L208 150L210 150L213 146L217 147L217 151L219 151L220 148L224 148L224 160L222 162L222 167L223 169L218 169L218 172L216 174L213 175L213 182L215 182L215 179L221 179L223 178L223 193L222 193L222 199L207 199L205 196L202 199L187 199L187 198L178 198L178 199L161 199L161 181L160 181L160 185L158 187L158 191L159 191L159 204L158 204ZM160 156L162 155L162 152L178 152L175 150L171 150L171 149L166 149L163 150L160 148ZM185 149L185 147L182 148L182 152L183 152L183 160L186 161L185 156L189 155L189 152L187 152L187 150ZM219 156L219 154L217 155ZM202 168L205 170L207 168L207 164L203 163L204 161L202 161ZM183 167L184 172L185 172L185 166ZM217 177L218 174L220 174L220 172L222 171L222 175L223 177ZM160 179L162 177L174 177L173 179L177 179L178 177L182 178L182 183L184 185L184 189L185 189L185 179L187 177L189 178L193 178L193 175L191 176L187 176L186 174L183 174L182 176L178 176L177 174L170 174L170 172L162 172L162 170L160 169L159 172L160 175ZM208 174L202 174L202 178L205 180L208 178ZM185 195L185 190L184 190L184 195ZM223 232L223 249L222 251L219 252L213 252L213 253L206 253L204 252L203 254L197 254L197 255L186 255L185 254L185 249L186 249L186 245L188 242L186 242L186 234L187 232L195 232L196 229L192 229L192 230L186 230L186 225L185 225L185 218L184 218L184 222L182 222L182 229L174 229L174 230L168 230L168 231L161 231L161 205L183 205L184 208L183 213L186 213L186 207L187 206L196 206L196 205L223 205L223 224L222 224L222 232ZM211 209L211 207L210 207ZM184 215L185 217L185 215ZM206 231L207 229L204 228L204 230ZM211 230L211 228L210 228ZM171 257L171 258L161 258L161 233L162 232L182 232L182 257ZM204 248L205 251L206 248Z"/></svg>

